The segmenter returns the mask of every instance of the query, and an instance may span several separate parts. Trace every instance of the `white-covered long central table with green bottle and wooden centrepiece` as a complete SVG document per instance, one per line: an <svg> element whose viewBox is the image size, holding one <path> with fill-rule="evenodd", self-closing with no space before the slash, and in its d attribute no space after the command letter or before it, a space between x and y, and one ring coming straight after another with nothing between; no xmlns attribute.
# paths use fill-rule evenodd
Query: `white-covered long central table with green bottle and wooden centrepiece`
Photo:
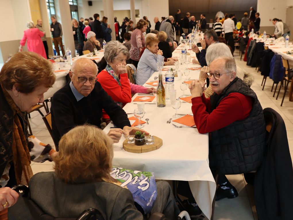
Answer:
<svg viewBox="0 0 293 220"><path fill-rule="evenodd" d="M180 48L178 48L180 49ZM179 57L180 50L173 52L173 57ZM188 53L191 51L188 50ZM195 56L191 53L191 56ZM167 66L168 67L168 66ZM169 66L175 68L174 66ZM183 73L186 65L180 65ZM189 64L188 67L200 67L200 65ZM165 74L166 71L163 71ZM190 79L198 79L200 71L190 70ZM153 81L158 76L158 72L149 78ZM180 84L184 81L175 77L176 96L182 95ZM148 84L145 84L148 85ZM149 86L149 85L148 85ZM189 89L185 94L190 94ZM134 95L132 100L137 96ZM156 98L153 102L156 102ZM131 102L124 106L126 113L133 113L137 108L137 102ZM145 102L148 103L148 102ZM208 161L208 134L198 133L196 128L176 128L166 121L175 114L170 100L166 100L166 107L159 108L156 104L145 104L144 119L149 118L149 125L144 124L144 128L150 134L158 136L163 140L163 145L158 150L148 153L130 153L122 148L122 143L126 137L122 137L119 143L114 144L113 165L133 170L144 170L154 172L156 179L163 180L185 180L189 181L190 189L202 212L209 219L212 214L212 201L216 190L216 184L209 169ZM192 114L191 104L182 102L178 114ZM133 116L132 114L129 117ZM174 118L173 118L174 119ZM172 119L172 120L173 120ZM180 125L179 123L174 123ZM109 123L104 129L106 133L113 127Z"/></svg>

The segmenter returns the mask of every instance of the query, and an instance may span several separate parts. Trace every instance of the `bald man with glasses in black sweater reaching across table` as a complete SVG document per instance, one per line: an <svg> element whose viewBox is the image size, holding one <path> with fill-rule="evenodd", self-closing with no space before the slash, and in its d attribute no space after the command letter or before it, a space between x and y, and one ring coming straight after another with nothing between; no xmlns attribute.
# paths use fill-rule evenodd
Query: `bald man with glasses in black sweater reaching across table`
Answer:
<svg viewBox="0 0 293 220"><path fill-rule="evenodd" d="M69 71L71 81L59 89L52 98L52 136L55 143L77 125L88 123L101 127L103 109L117 127L108 133L114 143L120 140L122 134L129 135L137 130L143 131L130 126L125 111L97 82L97 73L97 66L90 59L80 58L72 64ZM56 149L58 150L58 146Z"/></svg>

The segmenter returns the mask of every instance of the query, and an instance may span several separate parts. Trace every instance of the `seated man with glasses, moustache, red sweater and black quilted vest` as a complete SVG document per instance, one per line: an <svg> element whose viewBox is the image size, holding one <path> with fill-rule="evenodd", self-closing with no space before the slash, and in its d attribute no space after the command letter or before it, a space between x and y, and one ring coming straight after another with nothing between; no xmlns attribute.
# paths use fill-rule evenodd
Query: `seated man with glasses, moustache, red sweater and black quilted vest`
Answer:
<svg viewBox="0 0 293 220"><path fill-rule="evenodd" d="M206 77L214 92L209 98L203 93ZM225 175L251 172L261 164L266 132L263 109L255 92L236 77L231 57L218 57L203 67L200 79L189 89L198 132L210 134L209 167L219 174L216 201L235 198L238 192Z"/></svg>

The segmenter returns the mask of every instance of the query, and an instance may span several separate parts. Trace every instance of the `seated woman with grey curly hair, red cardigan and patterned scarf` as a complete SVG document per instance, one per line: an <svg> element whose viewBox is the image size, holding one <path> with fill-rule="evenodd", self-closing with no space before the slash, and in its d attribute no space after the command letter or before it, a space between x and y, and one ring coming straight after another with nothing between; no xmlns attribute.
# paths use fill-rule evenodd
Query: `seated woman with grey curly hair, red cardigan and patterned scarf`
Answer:
<svg viewBox="0 0 293 220"><path fill-rule="evenodd" d="M146 88L133 84L127 77L126 60L129 59L128 49L119 41L112 40L104 48L104 57L107 61L105 70L98 74L98 82L109 96L123 107L131 102L131 94L142 92L152 93L155 88ZM103 118L109 119L109 116L103 111Z"/></svg>

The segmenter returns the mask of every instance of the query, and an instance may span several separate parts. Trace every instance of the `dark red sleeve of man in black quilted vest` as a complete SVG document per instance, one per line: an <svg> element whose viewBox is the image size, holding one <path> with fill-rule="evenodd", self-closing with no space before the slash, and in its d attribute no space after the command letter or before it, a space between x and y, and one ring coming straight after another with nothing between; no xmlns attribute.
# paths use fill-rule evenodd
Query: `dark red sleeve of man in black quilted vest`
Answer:
<svg viewBox="0 0 293 220"><path fill-rule="evenodd" d="M240 93L229 94L211 113L209 113L209 99L195 97L191 101L194 122L201 134L216 131L234 121L245 119L253 106L253 98Z"/></svg>

